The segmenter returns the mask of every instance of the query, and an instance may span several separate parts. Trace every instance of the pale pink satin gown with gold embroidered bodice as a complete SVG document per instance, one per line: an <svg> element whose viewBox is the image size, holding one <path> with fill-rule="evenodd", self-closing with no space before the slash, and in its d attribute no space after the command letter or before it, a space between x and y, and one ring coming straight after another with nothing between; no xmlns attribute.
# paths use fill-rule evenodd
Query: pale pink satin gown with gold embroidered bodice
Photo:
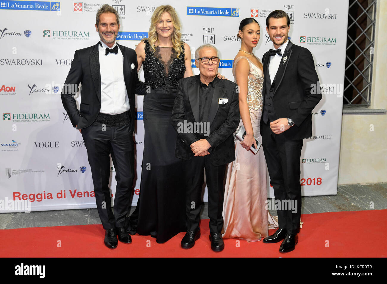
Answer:
<svg viewBox="0 0 387 284"><path fill-rule="evenodd" d="M234 66L245 56L235 59ZM259 122L262 114L262 71L248 60L250 72L247 81L247 104L254 136L262 142ZM233 70L234 78L235 71ZM236 81L236 80L235 80ZM242 119L239 125L243 125ZM239 126L238 126L239 128ZM266 162L262 147L254 155L246 151L235 138L235 161L228 164L226 187L224 191L223 238L241 238L247 241L259 241L268 235L268 229L278 227L278 222L268 210Z"/></svg>

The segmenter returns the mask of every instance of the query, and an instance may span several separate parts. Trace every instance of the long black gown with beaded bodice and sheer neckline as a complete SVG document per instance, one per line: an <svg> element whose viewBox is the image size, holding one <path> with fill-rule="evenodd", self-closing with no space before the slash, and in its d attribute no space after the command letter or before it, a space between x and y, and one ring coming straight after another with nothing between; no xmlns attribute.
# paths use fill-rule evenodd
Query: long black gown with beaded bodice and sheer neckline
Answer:
<svg viewBox="0 0 387 284"><path fill-rule="evenodd" d="M175 157L177 133L171 124L178 82L185 73L184 53L176 58L173 48L156 47L153 53L147 40L142 62L144 96L144 155L140 196L130 224L140 235L156 237L163 243L186 231L185 160ZM183 51L184 51L184 45ZM137 223L137 224L136 224Z"/></svg>

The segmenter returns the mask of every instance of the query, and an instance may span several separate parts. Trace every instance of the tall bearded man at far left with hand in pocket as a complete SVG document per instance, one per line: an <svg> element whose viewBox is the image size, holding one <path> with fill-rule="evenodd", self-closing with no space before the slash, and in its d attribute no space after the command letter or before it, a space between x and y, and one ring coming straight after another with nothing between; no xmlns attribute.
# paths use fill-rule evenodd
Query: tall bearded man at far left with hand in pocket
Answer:
<svg viewBox="0 0 387 284"><path fill-rule="evenodd" d="M137 76L133 49L117 44L120 28L116 10L105 4L96 15L96 45L75 51L62 90L62 103L87 149L99 218L106 230L104 243L116 248L118 240L131 243L123 228L134 180L134 94L144 94ZM81 83L80 108L74 95ZM116 170L114 214L109 189L110 158ZM118 235L118 240L116 235Z"/></svg>

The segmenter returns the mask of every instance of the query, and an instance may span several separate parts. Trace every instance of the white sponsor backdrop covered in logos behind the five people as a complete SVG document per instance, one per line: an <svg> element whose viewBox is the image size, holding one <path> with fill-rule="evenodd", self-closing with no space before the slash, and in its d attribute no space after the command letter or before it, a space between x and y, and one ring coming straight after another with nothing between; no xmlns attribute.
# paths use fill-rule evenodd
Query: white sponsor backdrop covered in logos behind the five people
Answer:
<svg viewBox="0 0 387 284"><path fill-rule="evenodd" d="M0 212L96 207L86 148L65 113L60 92L74 51L96 44L95 14L108 3L120 14L119 43L130 48L147 37L152 12L159 5L175 7L183 25L182 39L197 47L214 44L220 51L219 71L233 80L233 59L240 48L239 23L254 17L261 35L257 57L272 47L266 17L281 9L290 17L289 39L308 48L320 78L321 102L312 112L313 135L301 154L303 196L337 192L346 53L348 0L156 0L85 2L0 1ZM219 6L219 7L218 7ZM192 62L194 66L194 61ZM197 68L194 74L198 74ZM142 70L140 79L144 80ZM79 102L80 94L77 95ZM143 152L142 96L136 95L137 203ZM111 163L111 192L115 194ZM274 197L268 183L269 196ZM205 197L206 199L206 194ZM12 201L24 201L15 204Z"/></svg>

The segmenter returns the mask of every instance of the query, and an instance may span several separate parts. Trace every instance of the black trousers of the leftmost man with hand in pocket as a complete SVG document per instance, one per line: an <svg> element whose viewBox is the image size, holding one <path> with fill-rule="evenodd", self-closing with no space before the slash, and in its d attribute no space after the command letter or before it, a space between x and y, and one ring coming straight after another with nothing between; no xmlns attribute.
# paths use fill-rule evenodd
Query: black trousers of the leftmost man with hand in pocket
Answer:
<svg viewBox="0 0 387 284"><path fill-rule="evenodd" d="M103 131L106 130L106 131ZM118 127L91 125L82 129L87 149L99 218L105 230L123 227L134 180L134 141L130 124ZM116 172L114 214L109 189L110 158Z"/></svg>

